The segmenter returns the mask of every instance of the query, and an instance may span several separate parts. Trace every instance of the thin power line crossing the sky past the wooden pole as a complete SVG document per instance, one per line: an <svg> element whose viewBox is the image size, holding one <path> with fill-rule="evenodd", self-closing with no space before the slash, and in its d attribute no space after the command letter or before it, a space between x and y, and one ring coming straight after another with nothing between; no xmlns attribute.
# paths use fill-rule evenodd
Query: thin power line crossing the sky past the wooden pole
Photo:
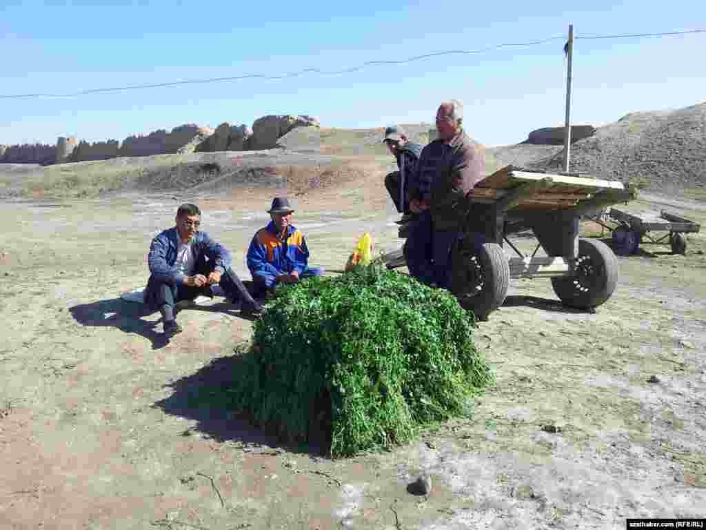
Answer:
<svg viewBox="0 0 706 530"><path fill-rule="evenodd" d="M706 33L706 29L703 30L686 30L686 31L669 31L662 33L633 33L624 35L577 35L575 39L626 39L626 38L637 38L637 37L666 37L670 35L688 35L693 33ZM109 93L109 92L121 92L124 90L141 90L143 88L166 88L170 86L182 86L182 85L194 85L203 83L220 83L224 81L244 81L246 79L264 79L267 81L274 81L292 77L303 76L305 73L318 73L320 75L340 75L342 73L352 73L354 71L362 70L368 66L392 66L397 64L407 64L414 61L421 61L421 59L429 59L431 57L441 57L447 55L469 55L469 54L479 54L484 52L491 52L495 49L508 48L508 47L528 47L542 45L546 42L551 42L554 40L566 39L564 35L557 35L556 37L549 37L542 40L534 40L530 42L510 42L501 45L493 45L489 47L479 48L479 49L452 49L443 52L433 52L424 55L417 55L414 57L408 57L407 59L398 60L386 60L386 61L366 61L358 66L351 66L342 70L321 70L318 68L307 68L297 72L284 73L280 76L265 76L260 73L251 73L244 76L232 76L232 77L215 77L215 78L205 78L205 79L187 79L184 81L171 81L168 83L151 83L144 85L131 85L131 86L120 86L112 88L90 88L87 90L79 90L78 92L66 93L66 94L8 94L0 95L0 99L28 99L28 98L75 98L80 95L98 94L98 93Z"/></svg>

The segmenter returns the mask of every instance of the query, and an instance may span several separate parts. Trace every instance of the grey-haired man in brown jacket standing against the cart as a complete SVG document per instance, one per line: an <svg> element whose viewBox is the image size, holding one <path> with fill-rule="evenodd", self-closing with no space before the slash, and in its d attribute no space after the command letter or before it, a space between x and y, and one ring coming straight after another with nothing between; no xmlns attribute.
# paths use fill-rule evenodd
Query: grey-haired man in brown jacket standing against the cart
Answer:
<svg viewBox="0 0 706 530"><path fill-rule="evenodd" d="M438 138L421 152L409 189L409 209L417 215L405 245L407 266L419 281L439 288L450 284L451 251L467 214L466 195L484 178L485 148L465 134L462 124L462 102L439 105Z"/></svg>

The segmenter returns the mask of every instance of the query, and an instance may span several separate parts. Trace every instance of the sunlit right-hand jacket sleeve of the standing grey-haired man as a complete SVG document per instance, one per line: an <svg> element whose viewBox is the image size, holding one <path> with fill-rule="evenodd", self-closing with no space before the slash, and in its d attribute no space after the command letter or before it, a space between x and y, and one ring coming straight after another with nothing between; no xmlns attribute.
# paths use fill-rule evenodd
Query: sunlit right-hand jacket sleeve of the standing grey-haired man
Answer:
<svg viewBox="0 0 706 530"><path fill-rule="evenodd" d="M481 146L464 145L453 153L448 172L439 182L434 206L452 204L462 199L483 179L485 151Z"/></svg>

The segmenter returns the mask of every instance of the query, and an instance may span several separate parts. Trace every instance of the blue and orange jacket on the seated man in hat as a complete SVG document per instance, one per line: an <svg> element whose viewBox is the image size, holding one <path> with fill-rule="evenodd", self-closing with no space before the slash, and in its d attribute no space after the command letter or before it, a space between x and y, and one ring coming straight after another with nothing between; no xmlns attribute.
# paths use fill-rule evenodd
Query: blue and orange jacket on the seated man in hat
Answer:
<svg viewBox="0 0 706 530"><path fill-rule="evenodd" d="M258 230L248 249L248 269L253 276L280 276L292 271L301 274L308 264L304 234L292 225L287 227L285 240L281 240L270 222Z"/></svg>

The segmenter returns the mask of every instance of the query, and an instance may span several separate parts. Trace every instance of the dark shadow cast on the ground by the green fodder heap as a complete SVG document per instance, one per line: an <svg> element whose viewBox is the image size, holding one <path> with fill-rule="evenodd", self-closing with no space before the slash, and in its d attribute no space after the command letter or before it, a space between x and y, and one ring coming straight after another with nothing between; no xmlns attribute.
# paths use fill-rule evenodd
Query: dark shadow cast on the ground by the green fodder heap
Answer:
<svg viewBox="0 0 706 530"><path fill-rule="evenodd" d="M172 389L172 395L155 402L152 408L198 422L181 432L181 436L201 432L217 442L241 442L245 452L253 453L287 451L315 457L328 454L330 439L325 432L314 430L307 444L288 444L272 434L272 430L256 427L244 413L233 410L229 390L238 384L237 374L244 371L243 355L252 353L237 351L215 359L193 375L165 385ZM330 401L328 405L330 408Z"/></svg>

